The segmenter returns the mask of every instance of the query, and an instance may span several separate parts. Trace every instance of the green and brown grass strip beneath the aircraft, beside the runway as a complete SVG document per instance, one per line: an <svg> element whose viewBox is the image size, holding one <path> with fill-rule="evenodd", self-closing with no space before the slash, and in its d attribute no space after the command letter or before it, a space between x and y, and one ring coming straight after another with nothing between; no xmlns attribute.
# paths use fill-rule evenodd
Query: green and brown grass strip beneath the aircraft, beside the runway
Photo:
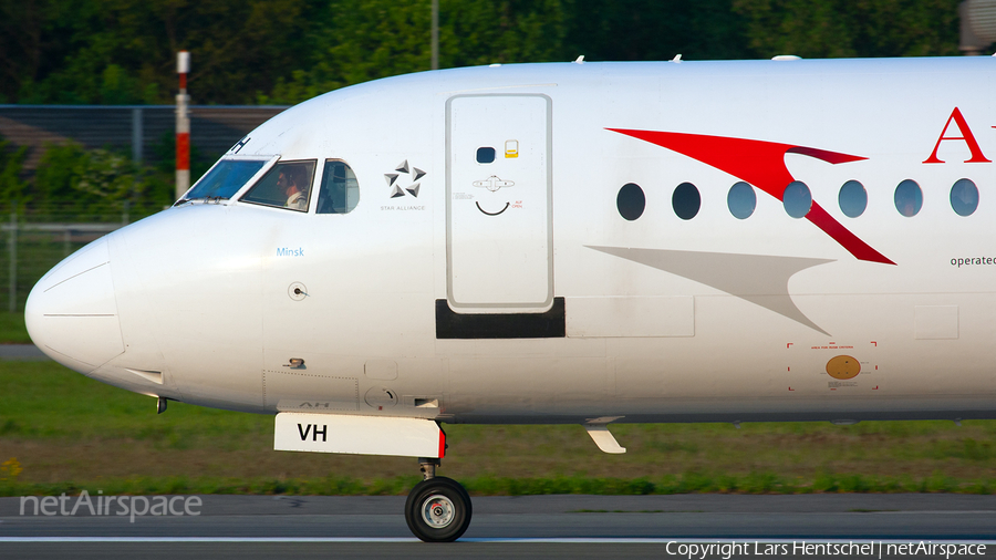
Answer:
<svg viewBox="0 0 996 560"><path fill-rule="evenodd" d="M996 489L996 421L446 425L442 476L478 496L966 492ZM330 476L330 473L333 474ZM172 403L54 362L0 362L0 496L404 495L405 457L273 450L273 417Z"/></svg>

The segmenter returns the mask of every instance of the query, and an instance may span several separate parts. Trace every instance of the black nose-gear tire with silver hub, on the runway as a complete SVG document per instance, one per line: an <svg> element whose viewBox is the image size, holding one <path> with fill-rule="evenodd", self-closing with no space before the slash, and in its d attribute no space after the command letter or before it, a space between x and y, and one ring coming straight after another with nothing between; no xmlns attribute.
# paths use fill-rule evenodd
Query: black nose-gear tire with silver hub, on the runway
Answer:
<svg viewBox="0 0 996 560"><path fill-rule="evenodd" d="M425 542L453 542L470 526L470 495L446 477L423 480L405 502L408 529Z"/></svg>

